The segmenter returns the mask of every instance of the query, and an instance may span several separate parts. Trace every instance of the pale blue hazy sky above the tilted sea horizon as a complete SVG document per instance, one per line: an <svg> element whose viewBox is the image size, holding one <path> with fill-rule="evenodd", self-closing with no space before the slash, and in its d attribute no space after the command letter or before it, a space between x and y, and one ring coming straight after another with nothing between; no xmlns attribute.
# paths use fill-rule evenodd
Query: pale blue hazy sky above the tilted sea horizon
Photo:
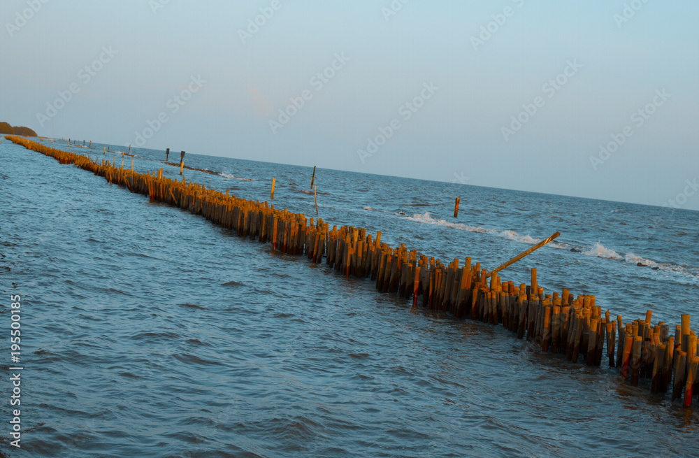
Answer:
<svg viewBox="0 0 699 458"><path fill-rule="evenodd" d="M699 210L697 17L689 0L5 0L0 120Z"/></svg>

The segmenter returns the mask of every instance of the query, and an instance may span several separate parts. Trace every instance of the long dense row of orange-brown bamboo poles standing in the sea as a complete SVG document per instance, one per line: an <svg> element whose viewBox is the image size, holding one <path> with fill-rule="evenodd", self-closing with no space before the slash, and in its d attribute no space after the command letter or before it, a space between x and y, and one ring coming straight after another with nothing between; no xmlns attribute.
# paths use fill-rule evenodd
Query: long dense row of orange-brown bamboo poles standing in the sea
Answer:
<svg viewBox="0 0 699 458"><path fill-rule="evenodd" d="M420 255L405 244L391 248L366 229L338 228L321 219L314 221L301 213L275 209L266 201L249 201L206 189L203 185L165 178L162 169L138 173L104 159L91 159L29 141L7 136L25 148L54 157L61 164L75 164L103 176L110 184L122 185L131 192L147 194L160 201L202 215L239 236L271 243L274 250L289 255L305 255L312 262L326 264L336 272L355 278L370 278L380 292L412 299L414 307L440 310L456 318L470 318L489 324L501 324L517 338L526 338L543 352L565 355L574 363L600 366L608 359L624 380L638 385L649 380L654 393L671 391L671 397L691 406L693 394L699 396L697 336L690 329L689 315L670 334L664 322L651 324L652 312L644 319L624 322L596 306L595 296L545 294L538 286L536 269L531 269L531 284L517 286L487 273L480 263L466 258L448 265L434 257ZM554 234L555 235L555 234ZM490 280L490 281L489 281Z"/></svg>

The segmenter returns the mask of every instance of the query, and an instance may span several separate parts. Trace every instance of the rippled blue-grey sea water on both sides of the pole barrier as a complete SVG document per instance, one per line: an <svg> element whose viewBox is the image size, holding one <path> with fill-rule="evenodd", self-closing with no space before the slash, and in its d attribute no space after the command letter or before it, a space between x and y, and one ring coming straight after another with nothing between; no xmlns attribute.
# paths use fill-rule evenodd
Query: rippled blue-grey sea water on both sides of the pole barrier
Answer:
<svg viewBox="0 0 699 458"><path fill-rule="evenodd" d="M103 146L77 150L122 161ZM138 171L178 176L164 152L131 153ZM268 200L275 177L276 208L316 217L312 166L185 159L211 172L185 169L188 181L245 199ZM331 227L382 231L445 263L494 269L561 231L503 280L536 268L545 292L594 294L625 322L648 309L654 323L699 319L699 212L326 169L315 183ZM699 456L697 404L650 394L647 380L411 310L370 280L6 140L0 255L0 332L20 294L24 367L14 450L3 337L0 456Z"/></svg>

